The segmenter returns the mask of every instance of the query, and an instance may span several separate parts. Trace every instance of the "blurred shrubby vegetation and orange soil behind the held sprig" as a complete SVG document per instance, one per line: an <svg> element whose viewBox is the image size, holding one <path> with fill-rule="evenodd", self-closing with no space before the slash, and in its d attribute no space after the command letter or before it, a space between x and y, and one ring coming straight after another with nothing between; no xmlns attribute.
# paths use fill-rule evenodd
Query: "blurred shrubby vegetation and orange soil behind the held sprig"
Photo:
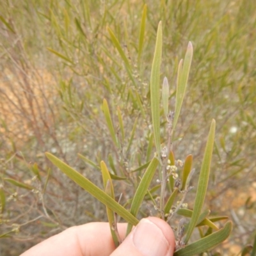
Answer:
<svg viewBox="0 0 256 256"><path fill-rule="evenodd" d="M237 255L252 243L256 222L253 0L2 2L0 236L4 240L0 253L19 255L63 228L106 221L104 205L53 168L45 151L100 188L100 160L117 172L130 173L152 157L148 92L159 20L163 22L161 70L168 77L172 108L179 60L189 40L194 47L173 143L175 156L184 159L193 154L198 173L210 121L216 120L207 204L213 214L230 216L234 230L215 251ZM147 22L140 48L144 4ZM113 44L112 32L127 63ZM125 130L118 133L124 138L122 154L111 140L103 99L108 100L116 131L120 109ZM96 166L81 161L77 153ZM129 175L131 184L116 182L122 204L129 201L138 182L135 174ZM193 193L188 204L193 205Z"/></svg>

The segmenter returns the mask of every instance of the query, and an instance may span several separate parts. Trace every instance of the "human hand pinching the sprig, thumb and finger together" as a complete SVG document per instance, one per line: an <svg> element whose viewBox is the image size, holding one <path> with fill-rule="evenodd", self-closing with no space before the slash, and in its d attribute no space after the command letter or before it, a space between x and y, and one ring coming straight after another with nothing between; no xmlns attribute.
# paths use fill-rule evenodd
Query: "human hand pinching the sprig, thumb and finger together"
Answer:
<svg viewBox="0 0 256 256"><path fill-rule="evenodd" d="M121 239L127 223L118 223ZM175 238L172 228L156 217L142 219L115 248L109 223L87 223L71 227L36 244L20 256L172 256Z"/></svg>

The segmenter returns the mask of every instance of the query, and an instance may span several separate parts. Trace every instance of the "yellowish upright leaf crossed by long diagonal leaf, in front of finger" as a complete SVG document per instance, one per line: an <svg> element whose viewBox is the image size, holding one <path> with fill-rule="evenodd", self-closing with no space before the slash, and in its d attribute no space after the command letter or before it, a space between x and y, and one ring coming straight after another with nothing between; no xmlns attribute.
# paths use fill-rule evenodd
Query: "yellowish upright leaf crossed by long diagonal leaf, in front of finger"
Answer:
<svg viewBox="0 0 256 256"><path fill-rule="evenodd" d="M109 170L104 161L100 162L100 168L102 172L102 179L103 179L103 184L104 184L104 189L105 192L115 200L115 193L114 193L114 187L113 183L111 180L111 177L109 175ZM108 206L107 208L107 215L108 215L108 221L109 221L109 228L111 235L113 237L113 241L115 243L115 246L117 247L119 245L118 243L118 238L116 236L116 232L113 229L113 225L115 225L115 212L113 212Z"/></svg>

